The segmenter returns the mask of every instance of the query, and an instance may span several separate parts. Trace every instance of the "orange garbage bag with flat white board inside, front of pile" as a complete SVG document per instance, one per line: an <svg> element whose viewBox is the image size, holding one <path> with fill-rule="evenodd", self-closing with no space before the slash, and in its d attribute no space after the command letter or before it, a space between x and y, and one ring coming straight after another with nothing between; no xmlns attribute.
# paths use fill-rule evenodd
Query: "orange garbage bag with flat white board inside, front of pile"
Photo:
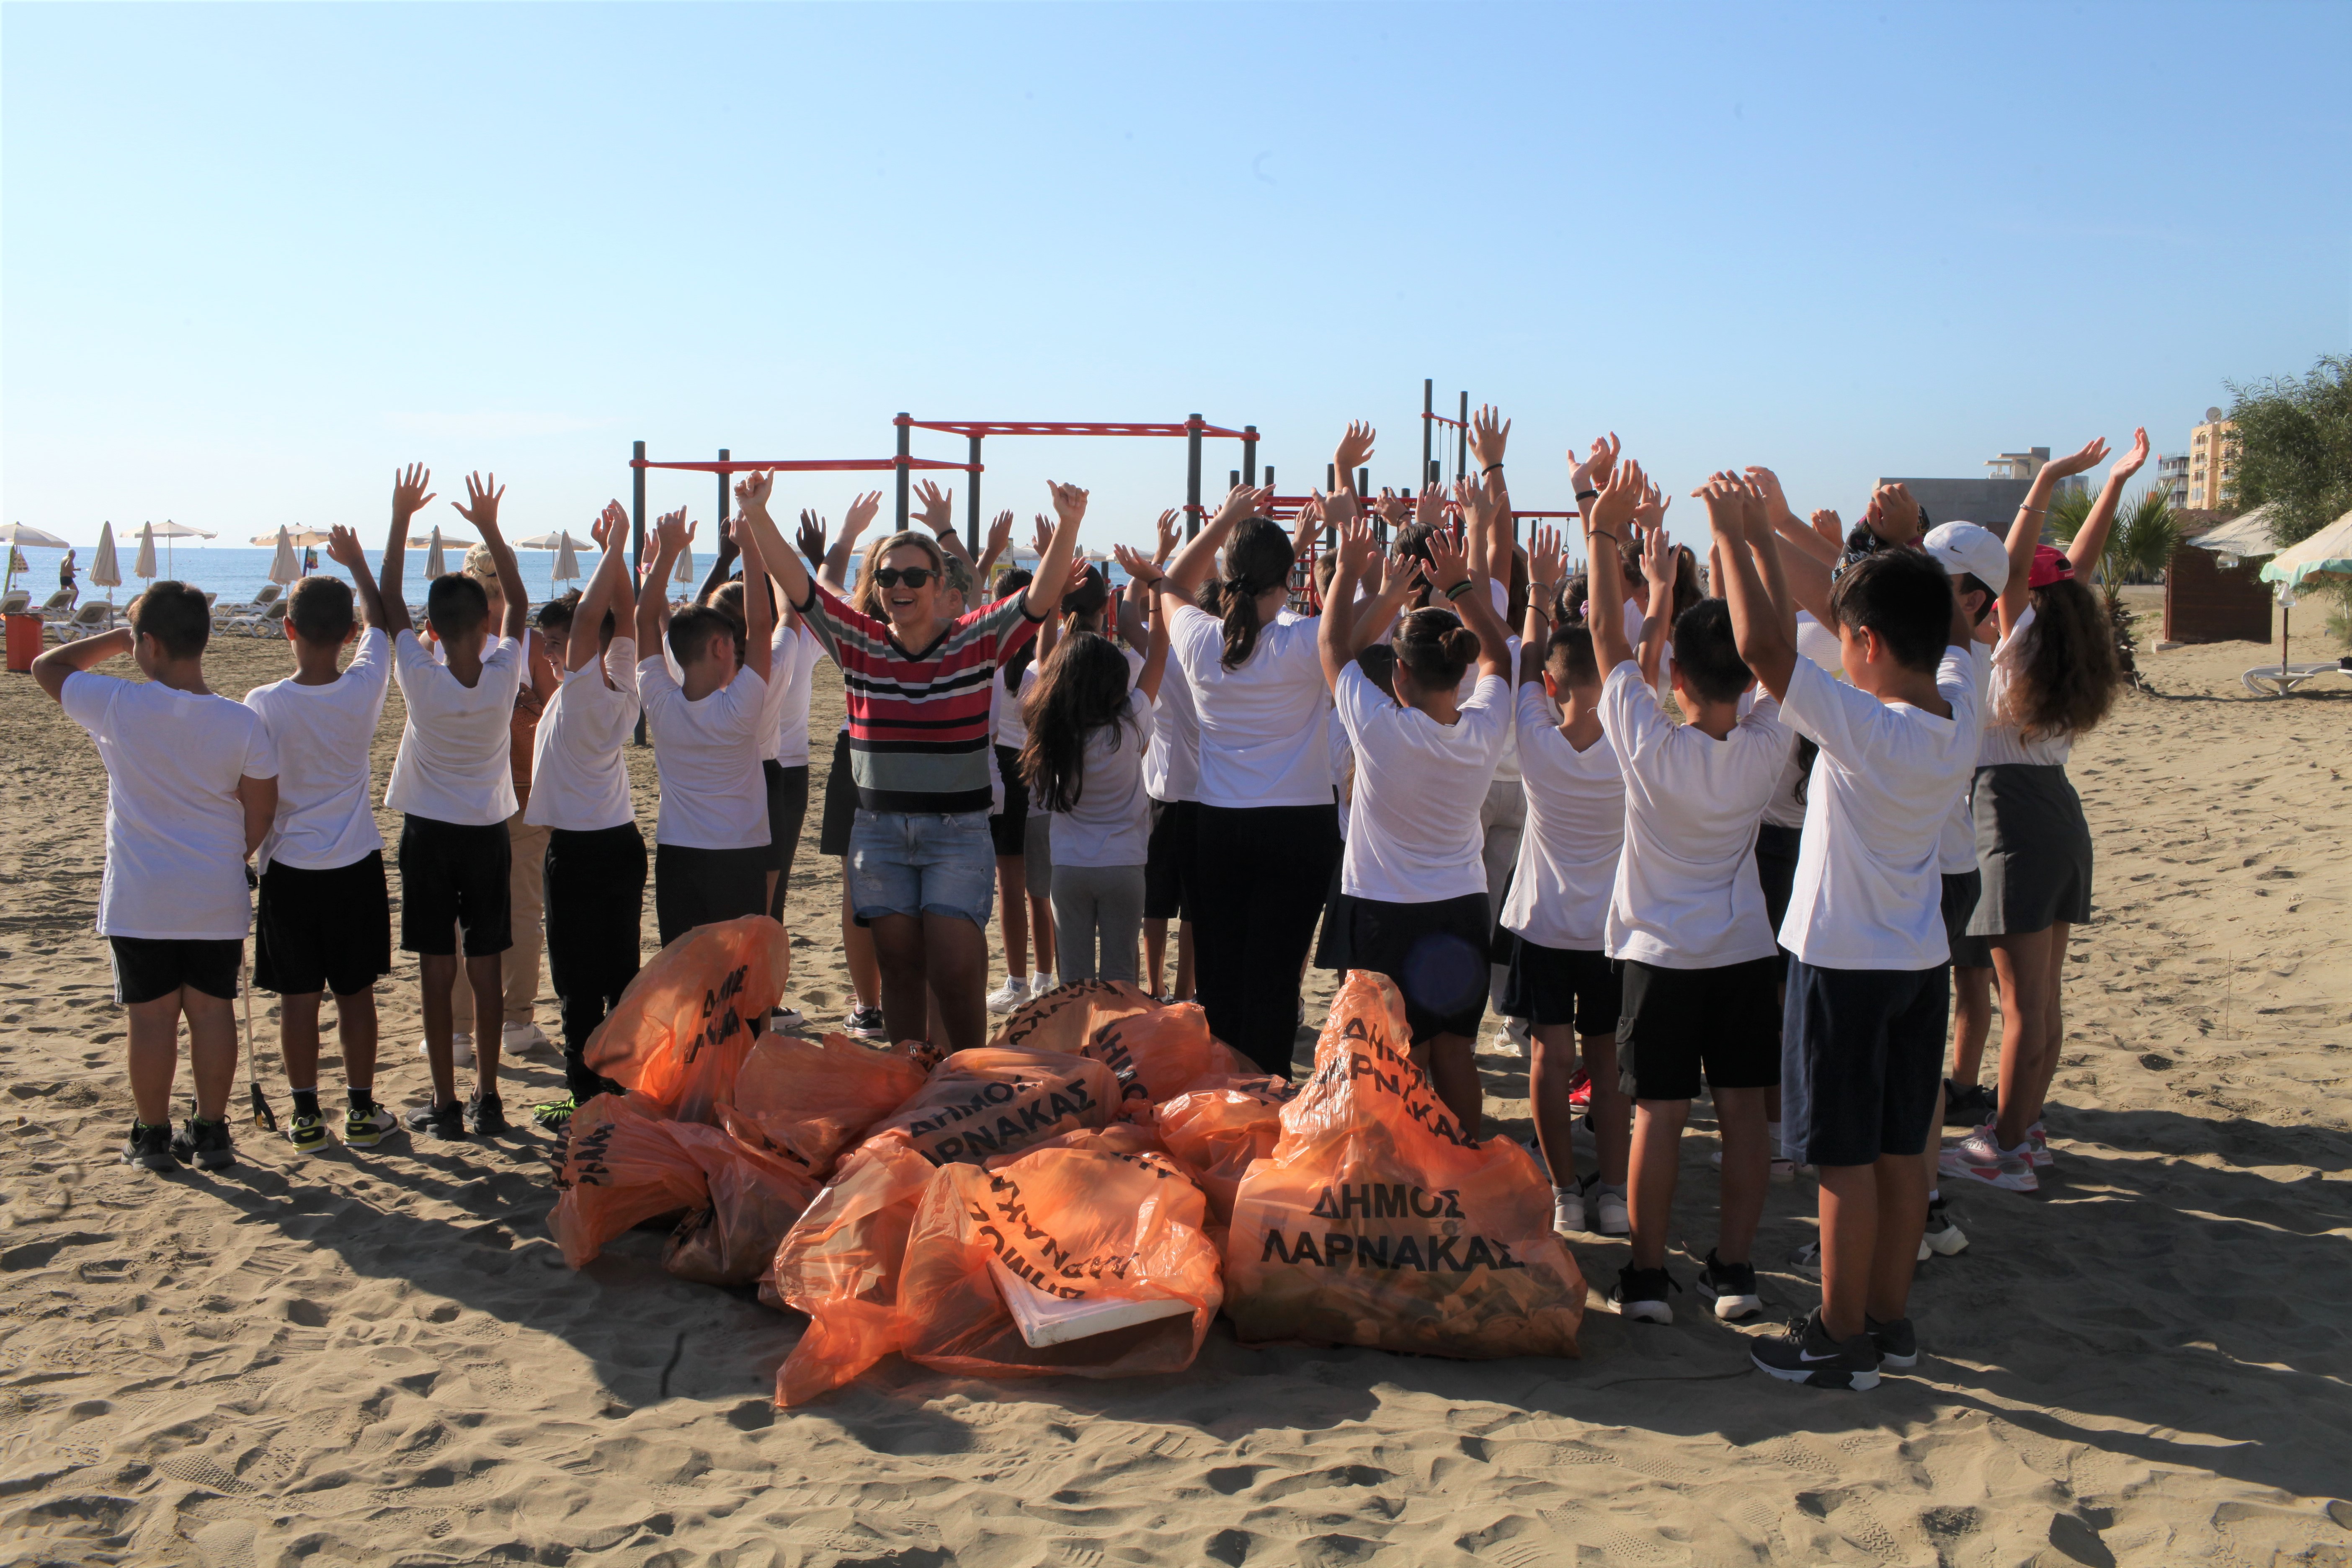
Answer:
<svg viewBox="0 0 2352 1568"><path fill-rule="evenodd" d="M1223 1298L1204 1213L1162 1154L943 1166L906 1239L898 1349L971 1378L1183 1371Z"/></svg>

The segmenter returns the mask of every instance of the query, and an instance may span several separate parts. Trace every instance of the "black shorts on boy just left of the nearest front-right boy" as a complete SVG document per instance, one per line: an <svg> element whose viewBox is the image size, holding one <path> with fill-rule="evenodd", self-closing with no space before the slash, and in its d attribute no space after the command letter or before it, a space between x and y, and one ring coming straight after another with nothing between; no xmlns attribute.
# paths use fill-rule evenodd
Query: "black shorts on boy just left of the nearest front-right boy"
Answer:
<svg viewBox="0 0 2352 1568"><path fill-rule="evenodd" d="M1717 969L1625 959L1618 978L1618 1081L1635 1100L1696 1100L1700 1067L1710 1088L1780 1081L1778 959Z"/></svg>

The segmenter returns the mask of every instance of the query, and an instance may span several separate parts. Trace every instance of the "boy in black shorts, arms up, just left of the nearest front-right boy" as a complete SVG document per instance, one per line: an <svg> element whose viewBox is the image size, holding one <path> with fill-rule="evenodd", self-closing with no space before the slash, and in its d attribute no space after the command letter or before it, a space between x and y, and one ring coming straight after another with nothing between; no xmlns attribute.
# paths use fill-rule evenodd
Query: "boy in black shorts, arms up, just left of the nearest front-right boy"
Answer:
<svg viewBox="0 0 2352 1568"><path fill-rule="evenodd" d="M1642 465L1623 461L1588 512L1592 581L1618 583L1618 538L1646 496ZM1646 541L1651 583L1644 642L1663 632L1672 557L1663 529ZM1778 705L1757 698L1722 599L1675 621L1672 686L1684 722L1670 724L1611 607L1590 616L1599 658L1599 719L1625 778L1625 849L1609 893L1606 947L1618 959L1618 1084L1635 1100L1630 1152L1632 1260L1609 1293L1632 1319L1672 1324L1665 1232L1672 1218L1682 1128L1700 1074L1715 1095L1724 1185L1717 1246L1698 1291L1722 1319L1755 1316L1757 1220L1771 1182L1764 1098L1780 1081L1778 961L1757 882L1757 823L1788 759Z"/></svg>

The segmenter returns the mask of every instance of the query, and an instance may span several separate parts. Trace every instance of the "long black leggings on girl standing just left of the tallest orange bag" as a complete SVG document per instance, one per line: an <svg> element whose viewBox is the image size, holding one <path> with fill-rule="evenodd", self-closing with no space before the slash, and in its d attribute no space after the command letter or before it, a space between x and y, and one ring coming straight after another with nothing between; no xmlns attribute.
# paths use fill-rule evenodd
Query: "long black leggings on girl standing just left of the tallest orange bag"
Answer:
<svg viewBox="0 0 2352 1568"><path fill-rule="evenodd" d="M1298 969L1331 867L1336 806L1202 806L1192 839L1192 964L1209 1032L1291 1077L1298 1039Z"/></svg>

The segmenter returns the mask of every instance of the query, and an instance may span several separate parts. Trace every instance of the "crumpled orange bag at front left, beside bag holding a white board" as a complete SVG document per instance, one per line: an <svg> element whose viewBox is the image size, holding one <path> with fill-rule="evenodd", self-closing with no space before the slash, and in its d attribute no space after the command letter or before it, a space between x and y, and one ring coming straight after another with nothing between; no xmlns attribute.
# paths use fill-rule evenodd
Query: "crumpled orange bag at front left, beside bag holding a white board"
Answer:
<svg viewBox="0 0 2352 1568"><path fill-rule="evenodd" d="M769 1288L809 1314L776 1368L776 1403L800 1406L898 1349L898 1265L931 1161L903 1140L863 1145L776 1248ZM767 1291L762 1291L767 1300Z"/></svg>

